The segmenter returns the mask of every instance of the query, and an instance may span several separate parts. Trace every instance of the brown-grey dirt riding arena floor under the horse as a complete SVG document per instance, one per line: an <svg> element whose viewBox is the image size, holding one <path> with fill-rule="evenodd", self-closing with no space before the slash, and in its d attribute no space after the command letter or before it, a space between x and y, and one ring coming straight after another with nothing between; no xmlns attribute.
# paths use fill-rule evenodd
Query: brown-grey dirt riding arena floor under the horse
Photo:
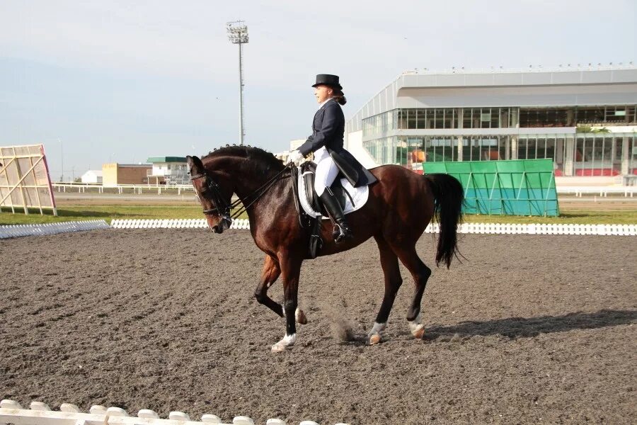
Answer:
<svg viewBox="0 0 637 425"><path fill-rule="evenodd" d="M403 268L386 342L363 344L382 293L367 242L304 265L309 324L279 355L284 323L253 299L263 255L248 232L1 240L0 398L259 424L636 423L637 238L462 239L468 261L427 286L426 341L406 327ZM419 251L431 264L431 235Z"/></svg>

